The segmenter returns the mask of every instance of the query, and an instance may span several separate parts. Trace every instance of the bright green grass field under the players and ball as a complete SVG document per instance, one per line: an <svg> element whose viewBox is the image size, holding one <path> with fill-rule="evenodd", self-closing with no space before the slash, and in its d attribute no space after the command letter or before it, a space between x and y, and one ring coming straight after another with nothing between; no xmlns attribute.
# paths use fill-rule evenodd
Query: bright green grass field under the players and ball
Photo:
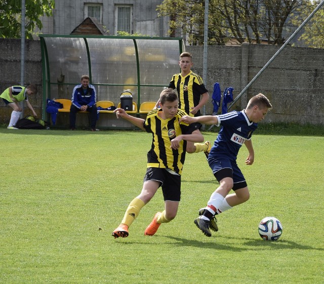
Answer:
<svg viewBox="0 0 324 284"><path fill-rule="evenodd" d="M255 164L245 147L238 156L251 198L210 238L193 220L217 183L203 153L187 154L176 219L144 236L164 207L158 191L114 239L150 144L139 131L0 128L0 283L324 282L324 137L254 135ZM258 234L266 216L284 227L278 241Z"/></svg>

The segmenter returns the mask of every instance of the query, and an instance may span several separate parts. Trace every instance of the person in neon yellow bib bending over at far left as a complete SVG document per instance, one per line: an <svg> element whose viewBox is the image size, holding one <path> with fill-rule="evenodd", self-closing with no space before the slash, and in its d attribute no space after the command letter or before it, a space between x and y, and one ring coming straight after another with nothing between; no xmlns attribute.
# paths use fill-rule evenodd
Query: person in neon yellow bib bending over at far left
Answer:
<svg viewBox="0 0 324 284"><path fill-rule="evenodd" d="M37 94L37 87L35 85L29 85L27 88L21 86L9 87L0 95L4 103L10 106L11 108L13 108L8 129L18 129L15 126L22 112L22 108L18 104L18 102L24 100L27 104L27 107L32 111L33 116L37 116L36 112L34 111L30 102L28 101L29 95L36 95L36 94Z"/></svg>

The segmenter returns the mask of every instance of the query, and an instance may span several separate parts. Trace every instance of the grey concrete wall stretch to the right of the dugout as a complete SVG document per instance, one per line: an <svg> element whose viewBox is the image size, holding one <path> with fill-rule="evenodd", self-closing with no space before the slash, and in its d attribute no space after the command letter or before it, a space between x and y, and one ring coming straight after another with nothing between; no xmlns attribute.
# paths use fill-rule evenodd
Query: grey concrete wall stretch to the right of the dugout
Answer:
<svg viewBox="0 0 324 284"><path fill-rule="evenodd" d="M222 92L233 87L234 98L248 85L279 47L244 44L241 47L209 47L207 82L213 93L215 82ZM192 70L203 76L203 48L186 47L193 55ZM324 50L286 47L255 80L232 109L242 109L258 93L273 106L267 122L324 123ZM210 102L206 113L213 110Z"/></svg>

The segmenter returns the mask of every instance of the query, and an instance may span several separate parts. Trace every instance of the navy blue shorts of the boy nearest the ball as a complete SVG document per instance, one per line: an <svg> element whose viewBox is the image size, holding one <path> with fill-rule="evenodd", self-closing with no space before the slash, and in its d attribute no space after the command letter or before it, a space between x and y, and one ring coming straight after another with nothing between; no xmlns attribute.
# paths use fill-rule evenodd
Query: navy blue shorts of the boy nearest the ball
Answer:
<svg viewBox="0 0 324 284"><path fill-rule="evenodd" d="M235 161L226 157L213 159L209 165L218 182L223 178L233 179L233 190L247 187L247 182Z"/></svg>

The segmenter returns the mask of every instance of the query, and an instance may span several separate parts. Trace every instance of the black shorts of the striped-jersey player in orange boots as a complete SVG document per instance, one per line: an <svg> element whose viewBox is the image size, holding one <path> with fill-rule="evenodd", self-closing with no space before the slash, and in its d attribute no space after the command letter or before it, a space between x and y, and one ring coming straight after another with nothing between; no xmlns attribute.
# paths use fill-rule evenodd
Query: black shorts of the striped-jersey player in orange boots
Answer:
<svg viewBox="0 0 324 284"><path fill-rule="evenodd" d="M144 182L149 180L160 182L165 201L180 201L181 176L173 175L163 168L147 168Z"/></svg>

